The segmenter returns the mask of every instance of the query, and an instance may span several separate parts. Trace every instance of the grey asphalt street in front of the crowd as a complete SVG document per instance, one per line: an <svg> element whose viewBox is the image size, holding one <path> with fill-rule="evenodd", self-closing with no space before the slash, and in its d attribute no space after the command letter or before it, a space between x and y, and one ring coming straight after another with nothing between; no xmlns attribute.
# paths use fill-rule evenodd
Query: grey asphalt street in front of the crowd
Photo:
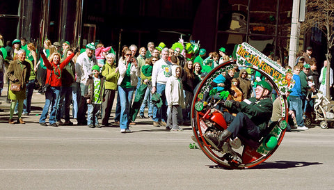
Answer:
<svg viewBox="0 0 334 190"><path fill-rule="evenodd" d="M3 93L6 95L5 93ZM190 149L183 132L136 120L131 134L118 127L42 127L44 95L33 95L25 125L8 124L0 104L0 189L333 189L334 129L293 131L264 163L243 170L218 167ZM114 112L111 113L114 115ZM75 120L72 120L75 122ZM112 120L110 120L112 121Z"/></svg>

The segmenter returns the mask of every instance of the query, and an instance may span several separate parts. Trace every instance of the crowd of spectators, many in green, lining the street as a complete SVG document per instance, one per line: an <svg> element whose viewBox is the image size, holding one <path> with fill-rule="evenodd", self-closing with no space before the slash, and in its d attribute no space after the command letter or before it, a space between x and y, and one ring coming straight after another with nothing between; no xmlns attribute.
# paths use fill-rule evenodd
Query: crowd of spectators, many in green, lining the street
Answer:
<svg viewBox="0 0 334 190"><path fill-rule="evenodd" d="M39 86L39 93L45 94L39 120L42 126L73 125L72 104L72 119L77 120L77 125L119 126L121 133L129 133L129 125L136 125L139 115L139 118L152 118L154 127L182 131L180 125L190 122L191 103L200 81L210 70L231 58L224 47L210 52L209 56L203 48L198 50L198 55L189 56L185 47L168 49L162 42L157 47L149 42L138 54L136 45L124 45L118 60L113 48L102 43L88 43L83 49L73 48L67 41L61 45L45 40L43 45L36 49L33 43L20 38L6 43L6 57L0 51L3 58L0 88L2 92L3 83L8 83L10 124L25 123L22 116L31 113L33 90ZM296 58L294 68L286 68L292 70L296 81L289 94L289 113L296 120L296 128L305 130L308 127L303 124L303 115L312 110L310 93L317 89L325 95L329 93L326 92L326 61L319 74L312 48L308 47ZM330 73L333 87L333 71ZM261 81L265 79L260 72L234 65L222 77L214 79L212 86L228 90L228 100L242 102L259 96L257 88L263 92L266 89L268 95L271 93L266 84L265 88L259 86L263 84ZM145 107L148 107L147 116ZM114 118L111 118L112 109L116 109ZM211 134L207 136L212 141Z"/></svg>

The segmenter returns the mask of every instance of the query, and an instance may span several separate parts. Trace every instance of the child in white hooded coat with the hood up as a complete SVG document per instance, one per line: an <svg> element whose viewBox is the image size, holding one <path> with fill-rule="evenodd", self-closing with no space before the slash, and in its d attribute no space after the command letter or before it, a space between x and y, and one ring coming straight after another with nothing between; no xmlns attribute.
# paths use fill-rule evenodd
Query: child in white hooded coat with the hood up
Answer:
<svg viewBox="0 0 334 190"><path fill-rule="evenodd" d="M184 94L180 66L172 68L172 76L168 78L165 88L167 104L170 107L168 113L166 130L183 131L177 124L177 107L184 109Z"/></svg>

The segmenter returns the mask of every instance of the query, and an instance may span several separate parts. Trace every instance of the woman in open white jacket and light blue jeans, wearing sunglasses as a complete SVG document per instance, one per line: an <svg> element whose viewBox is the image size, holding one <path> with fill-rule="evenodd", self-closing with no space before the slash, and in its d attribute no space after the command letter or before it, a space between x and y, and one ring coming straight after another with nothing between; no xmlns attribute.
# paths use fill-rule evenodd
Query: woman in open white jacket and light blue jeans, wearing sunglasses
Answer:
<svg viewBox="0 0 334 190"><path fill-rule="evenodd" d="M118 93L120 95L120 132L129 133L129 105L132 103L134 90L138 83L140 71L136 59L132 58L130 49L123 51L122 58L118 62Z"/></svg>

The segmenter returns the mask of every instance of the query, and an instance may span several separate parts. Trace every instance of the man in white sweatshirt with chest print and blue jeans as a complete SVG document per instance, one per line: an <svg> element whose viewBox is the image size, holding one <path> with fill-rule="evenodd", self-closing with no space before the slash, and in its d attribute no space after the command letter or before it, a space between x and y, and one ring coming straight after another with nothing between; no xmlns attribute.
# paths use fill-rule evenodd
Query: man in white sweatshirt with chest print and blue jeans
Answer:
<svg viewBox="0 0 334 190"><path fill-rule="evenodd" d="M161 59L153 65L152 70L152 94L161 94L162 102L166 102L165 88L167 79L171 76L171 65L168 61L168 48L164 48L161 51ZM167 120L167 106L163 104L160 109L154 105L153 108L153 126L166 126Z"/></svg>

